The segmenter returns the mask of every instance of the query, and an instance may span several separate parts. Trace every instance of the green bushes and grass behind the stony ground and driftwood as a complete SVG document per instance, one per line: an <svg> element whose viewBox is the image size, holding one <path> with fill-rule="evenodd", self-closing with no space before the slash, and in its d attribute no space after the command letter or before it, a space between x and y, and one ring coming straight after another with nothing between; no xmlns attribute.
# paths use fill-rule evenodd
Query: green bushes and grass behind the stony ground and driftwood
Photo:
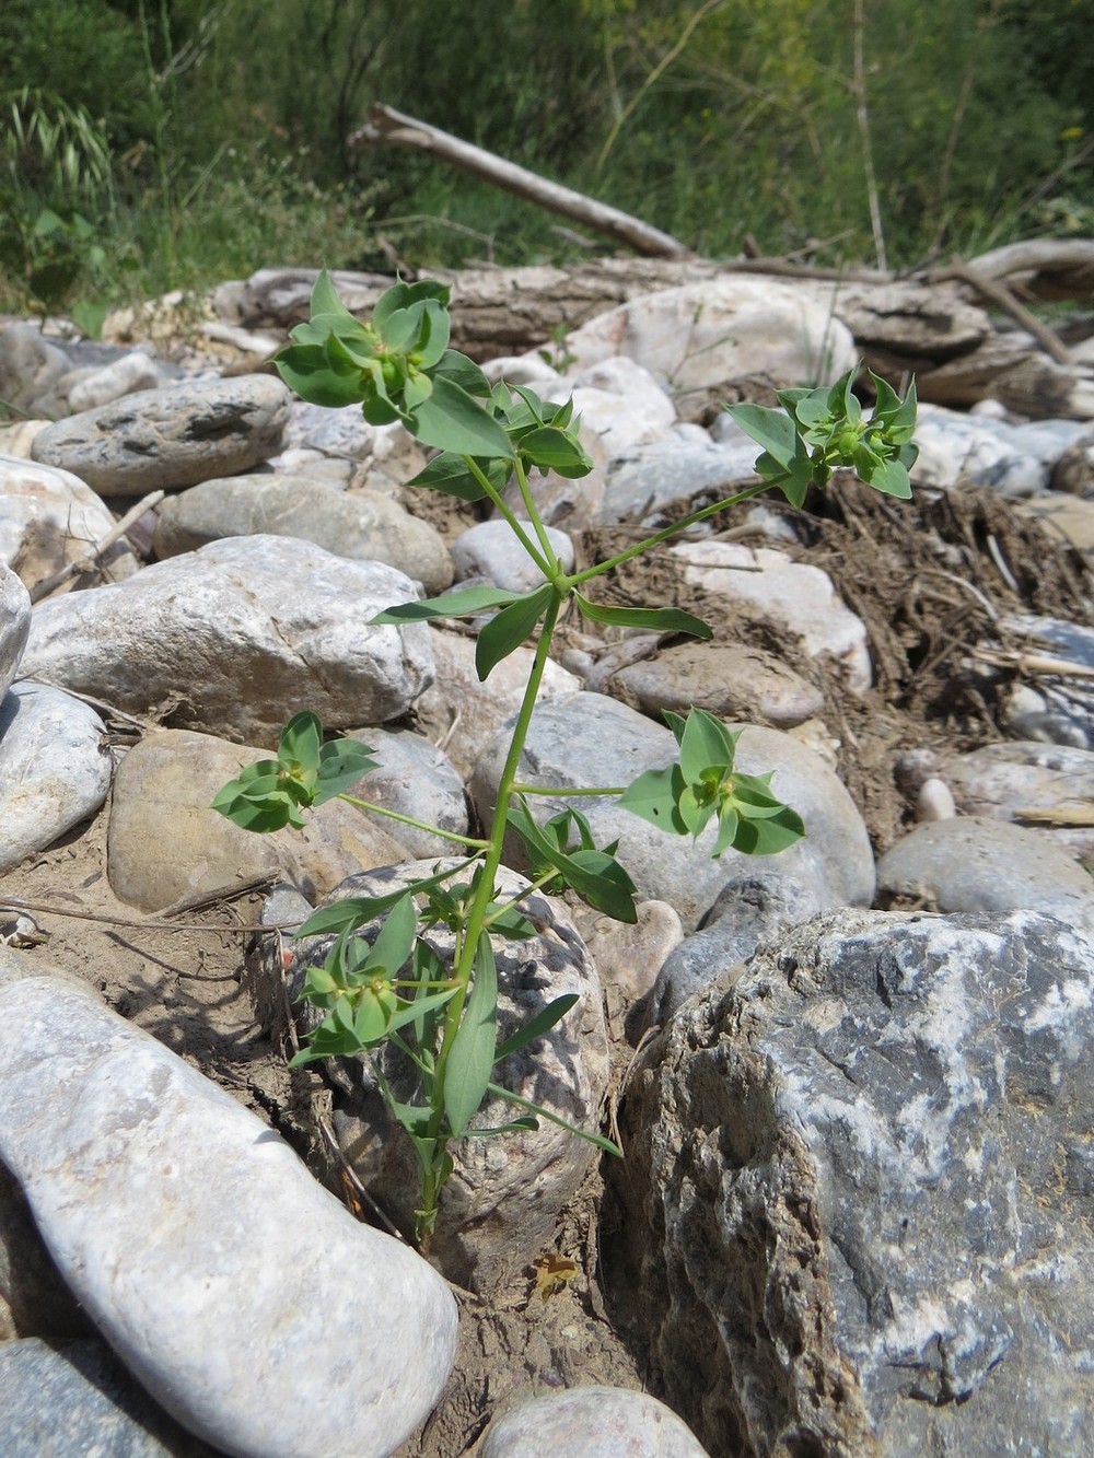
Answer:
<svg viewBox="0 0 1094 1458"><path fill-rule="evenodd" d="M373 101L710 257L1091 235L1091 35L1094 0L3 0L0 309L582 252L350 150Z"/></svg>

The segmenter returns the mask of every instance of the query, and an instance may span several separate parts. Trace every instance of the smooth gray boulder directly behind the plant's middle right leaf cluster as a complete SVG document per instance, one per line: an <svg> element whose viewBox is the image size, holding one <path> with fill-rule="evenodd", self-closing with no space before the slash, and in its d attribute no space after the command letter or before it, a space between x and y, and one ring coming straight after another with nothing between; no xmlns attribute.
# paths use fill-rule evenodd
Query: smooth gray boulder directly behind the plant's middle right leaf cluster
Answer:
<svg viewBox="0 0 1094 1458"><path fill-rule="evenodd" d="M729 728L734 728L732 725ZM740 726L737 726L740 728ZM480 819L490 821L497 796L509 732L487 741L470 781L471 803ZM567 694L547 700L532 719L521 760L521 779L559 787L626 786L646 770L664 768L675 758L677 742L668 729L652 723L626 704L602 694ZM796 739L776 729L745 726L738 744L738 768L745 774L775 771L775 793L805 821L805 838L780 851L770 865L788 876L815 876L824 868L827 885L839 904L862 905L874 898L874 857L862 818L833 771ZM597 796L554 798L537 795L531 808L547 819L565 806L588 816L597 844L618 840L618 859L639 888L639 895L668 901L686 930L694 930L719 891L748 875L753 857L725 851L712 860L715 828L697 844L677 837ZM509 847L509 865L521 865L521 849Z"/></svg>

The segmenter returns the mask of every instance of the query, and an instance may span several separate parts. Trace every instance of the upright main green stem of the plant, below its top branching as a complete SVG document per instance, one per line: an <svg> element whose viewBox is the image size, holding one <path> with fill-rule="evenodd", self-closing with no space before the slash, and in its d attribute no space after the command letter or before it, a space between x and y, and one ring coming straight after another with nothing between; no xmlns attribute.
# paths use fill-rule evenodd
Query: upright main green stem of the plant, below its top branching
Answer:
<svg viewBox="0 0 1094 1458"><path fill-rule="evenodd" d="M478 951L478 939L486 929L489 907L493 900L494 878L497 876L497 868L502 865L505 831L509 824L509 800L512 799L513 784L516 783L516 770L521 763L524 742L528 738L528 729L532 722L535 700L540 691L540 684L543 682L544 669L550 655L551 636L554 633L554 625L559 621L562 604L562 593L556 593L551 598L543 620L540 642L535 646L535 658L524 690L524 700L521 701L521 710L516 716L516 723L513 725L509 754L506 755L505 765L502 767L502 777L497 784L497 803L494 808L493 825L490 827L490 843L486 849L481 870L478 873L478 882L462 926L462 945L454 967L454 980L458 983L459 990L452 1002L445 1007L445 1028L441 1038L441 1050L433 1066L433 1112L426 1137L438 1140L438 1146L433 1156L433 1174L423 1181L422 1226L424 1229L432 1228L432 1222L436 1219L436 1201L441 1194L441 1185L443 1184L443 1180L439 1178L439 1175L443 1169L445 1146L448 1143L442 1131L445 1120L445 1069L448 1066L448 1056L452 1051L452 1042L459 1028L464 1003L467 1002L470 991L471 972L474 970L476 952Z"/></svg>

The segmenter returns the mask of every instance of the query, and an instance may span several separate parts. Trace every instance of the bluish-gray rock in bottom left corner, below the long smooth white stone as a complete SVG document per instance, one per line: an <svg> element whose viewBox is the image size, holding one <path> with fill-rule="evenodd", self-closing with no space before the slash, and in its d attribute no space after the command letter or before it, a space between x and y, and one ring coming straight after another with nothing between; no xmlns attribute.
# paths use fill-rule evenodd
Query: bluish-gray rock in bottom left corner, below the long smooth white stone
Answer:
<svg viewBox="0 0 1094 1458"><path fill-rule="evenodd" d="M214 1458L102 1341L0 1346L4 1458Z"/></svg>

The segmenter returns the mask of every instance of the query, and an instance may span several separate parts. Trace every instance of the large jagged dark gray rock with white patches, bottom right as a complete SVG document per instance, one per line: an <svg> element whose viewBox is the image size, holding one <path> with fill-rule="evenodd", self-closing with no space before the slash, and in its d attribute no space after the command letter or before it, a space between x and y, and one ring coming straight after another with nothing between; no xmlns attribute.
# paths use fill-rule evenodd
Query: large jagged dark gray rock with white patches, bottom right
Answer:
<svg viewBox="0 0 1094 1458"><path fill-rule="evenodd" d="M712 1452L1088 1451L1094 958L837 911L693 999L623 1108L630 1293Z"/></svg>

